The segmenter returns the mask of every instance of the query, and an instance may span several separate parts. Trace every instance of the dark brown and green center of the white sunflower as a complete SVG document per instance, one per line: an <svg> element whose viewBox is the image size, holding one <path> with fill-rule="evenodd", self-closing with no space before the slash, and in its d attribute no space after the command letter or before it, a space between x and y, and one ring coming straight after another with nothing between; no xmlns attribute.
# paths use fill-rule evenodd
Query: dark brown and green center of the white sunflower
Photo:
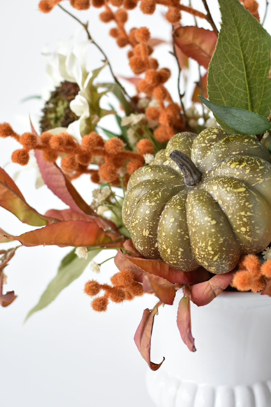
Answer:
<svg viewBox="0 0 271 407"><path fill-rule="evenodd" d="M78 116L69 108L69 104L80 88L77 83L63 81L51 93L50 99L42 109L43 116L40 120L41 132L49 131L55 127L68 127Z"/></svg>

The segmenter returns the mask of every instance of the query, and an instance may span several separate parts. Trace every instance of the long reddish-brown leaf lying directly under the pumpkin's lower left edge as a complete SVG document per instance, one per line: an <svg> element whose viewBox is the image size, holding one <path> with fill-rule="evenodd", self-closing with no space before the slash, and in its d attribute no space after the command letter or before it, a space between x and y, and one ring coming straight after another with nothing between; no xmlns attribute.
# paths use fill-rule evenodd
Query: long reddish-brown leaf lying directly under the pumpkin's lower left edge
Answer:
<svg viewBox="0 0 271 407"><path fill-rule="evenodd" d="M147 273L154 274L155 276L164 278L171 283L178 282L182 284L195 284L198 282L206 281L208 280L208 278L210 278L209 272L203 267L200 267L199 269L194 271L180 271L169 267L169 265L167 265L167 263L165 263L163 260L152 260L138 256L132 257L128 254L122 254L121 258L122 260L129 260L130 263L136 265L137 267L139 267L139 269L146 271ZM120 259L117 258L117 260ZM118 264L116 265L118 268L119 266L121 267L121 261L118 261ZM163 283L161 282L161 284Z"/></svg>

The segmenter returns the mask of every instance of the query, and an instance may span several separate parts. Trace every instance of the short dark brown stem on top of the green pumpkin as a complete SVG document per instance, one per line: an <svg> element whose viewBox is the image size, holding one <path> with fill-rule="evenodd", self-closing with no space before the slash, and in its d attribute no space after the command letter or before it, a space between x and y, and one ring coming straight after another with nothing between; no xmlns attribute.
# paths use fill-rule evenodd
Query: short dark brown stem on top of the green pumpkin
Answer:
<svg viewBox="0 0 271 407"><path fill-rule="evenodd" d="M173 150L172 153L169 154L169 157L172 161L176 162L176 164L182 170L185 185L193 186L200 181L202 173L197 169L193 161L190 160L187 155L178 150Z"/></svg>

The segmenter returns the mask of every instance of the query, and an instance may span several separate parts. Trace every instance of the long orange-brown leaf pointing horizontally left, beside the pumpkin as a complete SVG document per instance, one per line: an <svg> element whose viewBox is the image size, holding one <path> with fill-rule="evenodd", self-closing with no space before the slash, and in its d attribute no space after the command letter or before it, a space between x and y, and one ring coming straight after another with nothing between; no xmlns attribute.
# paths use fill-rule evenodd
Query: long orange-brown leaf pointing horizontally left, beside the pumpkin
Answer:
<svg viewBox="0 0 271 407"><path fill-rule="evenodd" d="M18 240L28 247L39 245L121 247L123 244L123 240L115 232L104 231L96 222L86 221L61 221L20 236L7 237L10 240Z"/></svg>

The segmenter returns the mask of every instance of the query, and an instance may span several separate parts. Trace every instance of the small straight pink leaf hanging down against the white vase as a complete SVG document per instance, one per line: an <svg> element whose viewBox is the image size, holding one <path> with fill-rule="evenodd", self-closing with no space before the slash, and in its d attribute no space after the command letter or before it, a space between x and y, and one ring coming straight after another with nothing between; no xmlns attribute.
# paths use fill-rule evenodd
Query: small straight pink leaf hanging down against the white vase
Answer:
<svg viewBox="0 0 271 407"><path fill-rule="evenodd" d="M195 352L195 339L191 333L190 300L187 297L182 297L179 302L177 311L177 326L184 344L191 352Z"/></svg>

